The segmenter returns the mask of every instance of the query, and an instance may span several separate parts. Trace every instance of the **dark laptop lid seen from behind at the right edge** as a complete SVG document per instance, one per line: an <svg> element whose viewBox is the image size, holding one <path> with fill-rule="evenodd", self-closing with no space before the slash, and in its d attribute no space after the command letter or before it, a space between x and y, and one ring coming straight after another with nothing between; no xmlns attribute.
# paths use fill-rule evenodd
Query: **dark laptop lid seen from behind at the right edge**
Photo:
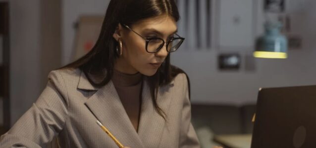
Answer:
<svg viewBox="0 0 316 148"><path fill-rule="evenodd" d="M316 85L261 89L251 148L316 148Z"/></svg>

